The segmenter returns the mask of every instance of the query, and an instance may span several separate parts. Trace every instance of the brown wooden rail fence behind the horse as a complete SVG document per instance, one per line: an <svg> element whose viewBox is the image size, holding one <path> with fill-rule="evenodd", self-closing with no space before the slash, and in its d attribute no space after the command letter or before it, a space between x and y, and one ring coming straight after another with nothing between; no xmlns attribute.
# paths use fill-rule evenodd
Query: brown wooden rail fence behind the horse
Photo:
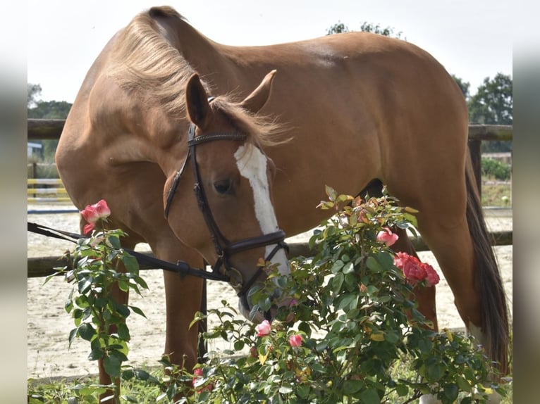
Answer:
<svg viewBox="0 0 540 404"><path fill-rule="evenodd" d="M59 139L65 120L29 119L27 130L28 139ZM511 125L469 125L469 150L471 153L474 172L478 187L481 189L481 141L513 140L513 127ZM29 189L30 192L30 189ZM412 238L412 244L417 251L426 251L428 248L421 238ZM512 232L491 233L493 246L513 244ZM306 243L290 244L291 257L312 255ZM64 267L67 263L61 257L28 258L27 276L44 277L54 273L55 267ZM141 270L155 269L141 265Z"/></svg>

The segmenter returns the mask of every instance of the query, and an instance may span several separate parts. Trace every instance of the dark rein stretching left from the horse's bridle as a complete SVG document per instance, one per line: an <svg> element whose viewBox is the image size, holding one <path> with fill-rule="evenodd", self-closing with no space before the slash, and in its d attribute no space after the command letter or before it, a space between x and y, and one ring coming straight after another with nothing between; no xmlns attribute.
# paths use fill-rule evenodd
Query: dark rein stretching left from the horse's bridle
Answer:
<svg viewBox="0 0 540 404"><path fill-rule="evenodd" d="M37 223L28 222L28 231L36 234L42 234L43 236L54 237L56 239L71 241L77 243L79 239L87 239L87 236L82 234L63 232L62 230L52 229L51 227L38 225ZM176 264L169 263L168 261L160 260L159 258L151 257L150 255L142 254L137 251L130 250L129 248L123 248L124 251L133 255L138 263L145 263L149 265L155 265L156 269L162 269L170 272L176 272L181 276L192 276L202 279L209 279L212 281L230 282L231 279L226 274L208 272L201 270L200 268L191 267L188 263L178 261Z"/></svg>

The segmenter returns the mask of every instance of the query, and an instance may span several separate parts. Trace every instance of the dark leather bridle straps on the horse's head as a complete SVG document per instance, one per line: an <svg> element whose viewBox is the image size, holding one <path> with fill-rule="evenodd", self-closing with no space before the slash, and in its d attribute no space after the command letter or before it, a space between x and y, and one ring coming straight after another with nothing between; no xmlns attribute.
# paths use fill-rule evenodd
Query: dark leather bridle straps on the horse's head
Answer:
<svg viewBox="0 0 540 404"><path fill-rule="evenodd" d="M212 266L212 272L216 274L224 274L230 280L231 286L238 291L238 296L240 298L245 298L245 294L250 290L251 286L257 280L264 268L259 267L258 270L253 274L253 276L247 281L244 282L242 274L231 265L230 258L235 253L240 253L242 251L250 250L252 248L259 248L264 246L269 246L276 244L268 256L264 259L265 261L271 260L274 255L281 249L285 248L288 251L288 246L285 243L285 232L279 229L277 232L263 234L262 236L252 237L250 239L244 239L240 241L235 241L231 243L228 241L223 233L219 230L219 227L214 220L214 216L211 213L210 206L206 194L204 193L204 187L201 181L199 165L197 164L197 155L196 150L197 146L200 144L208 143L209 141L218 141L218 140L230 140L230 141L245 141L247 135L243 133L223 133L223 132L213 132L209 134L203 134L201 136L195 137L195 125L191 124L188 132L188 155L185 157L184 163L173 179L173 184L171 189L168 191L166 206L165 206L165 218L168 217L168 212L171 208L171 203L173 201L174 194L176 189L178 189L178 184L180 184L180 178L185 170L185 166L188 164L188 160L192 161L193 175L195 177L195 196L197 197L197 204L199 205L202 215L204 216L204 221L207 223L212 242L214 243L214 248L218 255L216 263ZM221 267L224 268L224 273L221 271Z"/></svg>

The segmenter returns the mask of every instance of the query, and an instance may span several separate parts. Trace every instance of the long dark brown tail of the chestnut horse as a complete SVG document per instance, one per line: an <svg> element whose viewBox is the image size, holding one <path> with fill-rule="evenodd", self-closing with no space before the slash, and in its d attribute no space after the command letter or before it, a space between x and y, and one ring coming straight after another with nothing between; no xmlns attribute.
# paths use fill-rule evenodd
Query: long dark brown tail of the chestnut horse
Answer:
<svg viewBox="0 0 540 404"><path fill-rule="evenodd" d="M468 155L468 153L467 153ZM509 332L508 305L497 260L491 248L481 198L477 189L470 156L467 156L467 223L477 263L476 281L480 289L481 331L489 358L499 362L501 374L508 374Z"/></svg>

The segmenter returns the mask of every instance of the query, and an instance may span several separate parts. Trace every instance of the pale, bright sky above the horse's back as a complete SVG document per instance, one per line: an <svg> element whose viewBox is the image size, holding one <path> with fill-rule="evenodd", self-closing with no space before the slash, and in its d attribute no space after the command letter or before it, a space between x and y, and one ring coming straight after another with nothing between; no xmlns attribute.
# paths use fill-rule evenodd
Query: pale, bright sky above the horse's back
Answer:
<svg viewBox="0 0 540 404"><path fill-rule="evenodd" d="M27 82L42 101L73 103L90 65L140 11L167 4L205 36L228 45L321 37L336 23L393 27L474 94L486 77L512 75L513 24L502 0L29 0Z"/></svg>

